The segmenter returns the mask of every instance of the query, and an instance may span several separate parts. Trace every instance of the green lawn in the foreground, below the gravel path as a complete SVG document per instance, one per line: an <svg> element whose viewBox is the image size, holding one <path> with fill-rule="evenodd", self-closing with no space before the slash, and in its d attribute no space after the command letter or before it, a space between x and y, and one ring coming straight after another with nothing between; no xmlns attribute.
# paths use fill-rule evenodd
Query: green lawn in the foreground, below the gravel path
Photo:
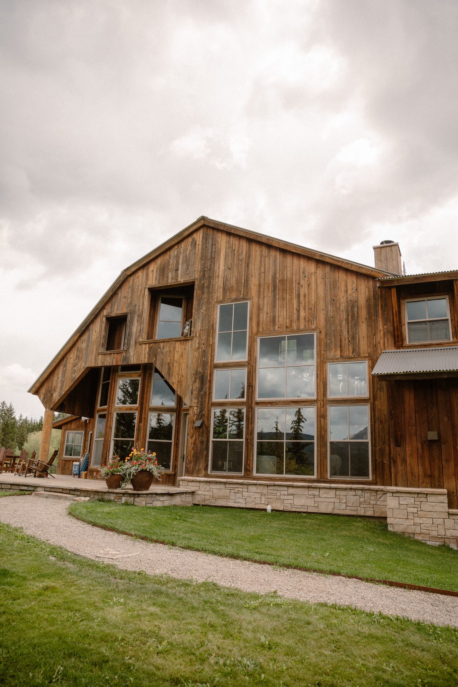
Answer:
<svg viewBox="0 0 458 687"><path fill-rule="evenodd" d="M5 687L457 683L456 629L117 570L0 524Z"/></svg>

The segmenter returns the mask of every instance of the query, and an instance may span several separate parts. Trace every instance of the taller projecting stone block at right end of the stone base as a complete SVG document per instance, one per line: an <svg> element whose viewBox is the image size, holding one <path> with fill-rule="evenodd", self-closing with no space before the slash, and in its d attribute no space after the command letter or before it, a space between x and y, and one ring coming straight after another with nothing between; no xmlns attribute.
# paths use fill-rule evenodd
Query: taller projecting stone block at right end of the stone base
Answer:
<svg viewBox="0 0 458 687"><path fill-rule="evenodd" d="M458 548L458 510L449 510L446 489L387 487L387 522L393 532Z"/></svg>

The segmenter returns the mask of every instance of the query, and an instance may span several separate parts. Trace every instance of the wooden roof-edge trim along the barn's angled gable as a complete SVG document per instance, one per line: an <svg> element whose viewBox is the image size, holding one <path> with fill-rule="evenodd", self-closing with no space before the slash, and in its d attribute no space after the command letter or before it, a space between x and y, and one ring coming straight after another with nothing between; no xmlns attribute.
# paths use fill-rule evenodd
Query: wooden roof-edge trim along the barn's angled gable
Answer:
<svg viewBox="0 0 458 687"><path fill-rule="evenodd" d="M139 258L139 260L136 260L135 262L130 264L129 267L126 267L126 269L124 269L119 274L117 279L113 282L113 284L111 284L110 288L106 291L106 293L104 293L104 295L102 295L102 298L100 298L98 303L95 304L95 306L92 308L89 315L87 315L87 317L84 318L80 326L73 332L71 337L62 346L62 348L60 348L60 350L56 353L54 358L50 361L49 365L47 365L45 370L43 370L40 376L38 376L36 381L34 381L28 392L30 394L36 394L39 387L41 387L41 385L45 382L47 377L51 374L51 372L53 372L54 368L56 368L58 363L60 363L62 358L65 357L65 355L67 354L67 352L69 352L74 343L78 341L80 336L82 336L82 334L89 327L91 322L93 322L93 319L95 319L95 317L97 317L102 308L104 308L106 303L112 297L113 293L115 293L115 291L117 291L117 289L119 289L119 287L122 286L124 281L131 274L141 269L141 267L144 267L145 264L151 262L152 260L154 260L154 258L159 257L162 253L165 253L165 251L170 250L170 248L174 247L174 245L180 243L180 241L187 238L187 236L190 236L190 234L193 234L198 229L201 229L204 226L210 227L211 229L220 229L222 232L229 232L231 234L236 234L237 236L242 236L244 238L257 241L258 243L264 243L275 248L297 253L299 255L312 258L313 260L328 262L329 264L336 265L336 267L350 269L352 271L365 274L372 278L382 279L384 277L393 276L391 272L387 272L382 269L375 269L374 267L369 267L368 265L360 264L359 262L344 260L343 258L338 258L328 253L322 253L321 251L306 248L295 243L290 243L289 241L280 240L279 238L274 238L273 236L267 236L266 234L260 234L259 232L252 232L250 229L242 229L242 227L236 227L235 225L225 224L224 222L218 222L203 215L196 219L196 221L192 224L188 225L184 229L181 229L181 232L178 232L178 234L175 234L168 240L164 241L164 243L161 243L161 245L159 245L157 248L154 248L152 251L147 253L145 256L143 256L143 258Z"/></svg>

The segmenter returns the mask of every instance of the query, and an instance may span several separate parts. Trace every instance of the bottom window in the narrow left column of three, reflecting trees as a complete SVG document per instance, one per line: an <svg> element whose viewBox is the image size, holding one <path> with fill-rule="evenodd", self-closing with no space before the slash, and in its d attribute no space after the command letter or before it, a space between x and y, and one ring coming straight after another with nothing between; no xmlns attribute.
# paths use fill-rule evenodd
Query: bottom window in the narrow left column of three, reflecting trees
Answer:
<svg viewBox="0 0 458 687"><path fill-rule="evenodd" d="M214 408L211 422L211 472L243 473L244 408Z"/></svg>

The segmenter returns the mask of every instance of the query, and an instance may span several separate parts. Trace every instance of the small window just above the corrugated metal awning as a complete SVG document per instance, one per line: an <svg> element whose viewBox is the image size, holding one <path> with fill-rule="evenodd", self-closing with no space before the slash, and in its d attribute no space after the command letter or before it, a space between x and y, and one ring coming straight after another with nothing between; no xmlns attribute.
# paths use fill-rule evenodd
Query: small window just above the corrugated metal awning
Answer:
<svg viewBox="0 0 458 687"><path fill-rule="evenodd" d="M448 303L441 298L422 298L406 302L408 343L450 341Z"/></svg>

